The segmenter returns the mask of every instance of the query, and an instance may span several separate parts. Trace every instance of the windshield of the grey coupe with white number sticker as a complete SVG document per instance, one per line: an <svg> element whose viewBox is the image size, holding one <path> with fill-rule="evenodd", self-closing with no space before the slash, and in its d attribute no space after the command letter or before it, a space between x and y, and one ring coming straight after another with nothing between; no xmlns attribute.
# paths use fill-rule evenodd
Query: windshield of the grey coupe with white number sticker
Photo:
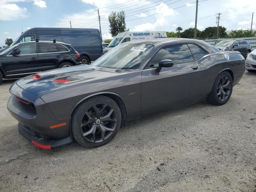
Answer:
<svg viewBox="0 0 256 192"><path fill-rule="evenodd" d="M98 58L92 66L137 69L153 47L145 44L121 44Z"/></svg>

